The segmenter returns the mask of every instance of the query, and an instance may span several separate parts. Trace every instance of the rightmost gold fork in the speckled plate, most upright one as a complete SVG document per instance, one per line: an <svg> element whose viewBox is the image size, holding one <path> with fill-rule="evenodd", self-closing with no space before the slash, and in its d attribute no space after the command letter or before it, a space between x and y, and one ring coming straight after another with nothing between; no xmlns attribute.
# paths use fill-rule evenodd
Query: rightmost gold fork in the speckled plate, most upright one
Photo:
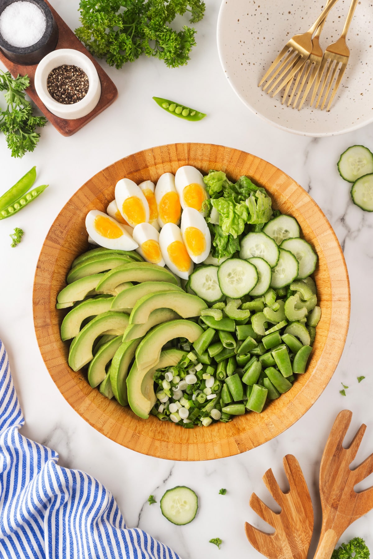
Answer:
<svg viewBox="0 0 373 559"><path fill-rule="evenodd" d="M329 100L329 103L328 103L328 106L327 106L327 111L329 111L330 105L332 105L334 96L336 95L339 84L341 83L341 80L342 80L342 77L343 77L343 74L344 74L344 70L346 70L347 63L348 63L348 58L350 56L350 49L348 48L348 46L346 44L346 35L347 35L347 31L350 27L352 17L353 17L353 13L355 12L355 8L358 4L358 1L359 0L352 0L352 2L350 4L350 9L348 10L346 22L344 23L342 34L339 37L338 41L332 42L332 44L330 44L327 47L327 49L325 49L323 60L322 60L322 63L320 65L318 79L315 82L315 87L314 87L314 91L313 91L312 98L311 98L311 106L312 106L312 103L314 102L315 96L317 94L317 90L318 90L320 80L322 78L325 66L327 65L327 62L329 61L329 65L328 65L327 71L325 72L322 87L320 89L319 97L318 97L318 100L317 100L317 103L316 103L316 108L317 108L319 106L319 103L320 103L321 98L323 96L325 86L328 83L327 91L325 93L324 100L323 100L322 105L321 105L321 110L323 110L323 108L324 108L325 102L327 101L327 98L328 98L328 95L329 95L329 92L330 92L330 88L332 87L332 84L334 82L334 78L336 78L336 82L334 83L332 95L330 96L330 100ZM334 62L335 62L335 64L334 64ZM334 65L334 68L333 68L333 65ZM332 72L332 68L333 68L333 72Z"/></svg>

